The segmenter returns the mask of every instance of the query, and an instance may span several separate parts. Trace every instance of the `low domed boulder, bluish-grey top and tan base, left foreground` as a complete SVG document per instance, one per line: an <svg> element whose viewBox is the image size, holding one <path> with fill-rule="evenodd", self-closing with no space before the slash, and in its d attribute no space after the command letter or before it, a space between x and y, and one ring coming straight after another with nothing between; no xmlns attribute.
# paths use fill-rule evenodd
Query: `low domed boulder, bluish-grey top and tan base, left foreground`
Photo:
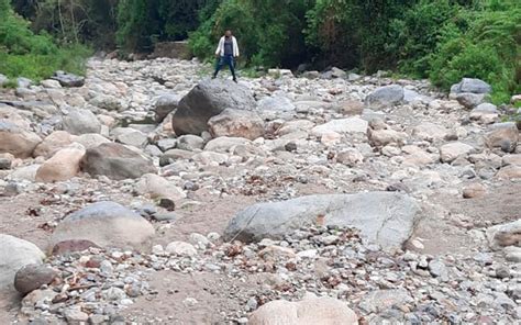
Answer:
<svg viewBox="0 0 521 325"><path fill-rule="evenodd" d="M97 202L65 217L51 237L49 249L66 240L89 240L100 247L148 249L155 231L137 213L115 202Z"/></svg>

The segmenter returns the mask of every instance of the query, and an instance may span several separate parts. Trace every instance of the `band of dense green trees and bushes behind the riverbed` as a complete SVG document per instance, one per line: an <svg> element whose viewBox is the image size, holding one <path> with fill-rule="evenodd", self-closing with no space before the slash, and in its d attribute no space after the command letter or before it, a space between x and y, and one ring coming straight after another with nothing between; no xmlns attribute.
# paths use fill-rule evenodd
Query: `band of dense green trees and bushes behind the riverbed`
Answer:
<svg viewBox="0 0 521 325"><path fill-rule="evenodd" d="M10 12L9 1L1 2L3 12ZM30 47L25 53L31 55L57 51L51 35L59 44L81 43L98 49L118 47L122 53L146 53L153 51L156 42L188 38L192 53L209 59L219 37L231 29L240 42L241 60L250 66L297 68L307 64L317 69L339 66L369 74L387 69L430 78L444 89L462 77L476 77L492 83L497 101L506 101L509 94L521 91L518 0L13 0L11 3L32 22L33 32L12 13L8 21L2 20L3 31L9 26L10 35L19 32L25 35L22 37L25 41L18 45L12 42L8 45L4 36L0 44L9 46L10 55L20 54L15 47ZM36 34L42 31L45 33ZM44 51L44 47L48 48Z"/></svg>

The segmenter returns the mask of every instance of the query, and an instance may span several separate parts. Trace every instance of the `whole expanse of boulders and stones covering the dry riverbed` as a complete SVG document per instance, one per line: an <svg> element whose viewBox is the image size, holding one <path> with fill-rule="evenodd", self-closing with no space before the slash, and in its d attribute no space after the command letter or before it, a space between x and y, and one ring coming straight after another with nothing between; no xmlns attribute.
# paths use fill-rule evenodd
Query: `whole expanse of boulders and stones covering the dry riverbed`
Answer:
<svg viewBox="0 0 521 325"><path fill-rule="evenodd" d="M446 97L428 81L336 68L235 85L200 81L196 60L88 66L86 78L58 71L2 90L0 194L54 202L32 212L52 215L46 254L0 235L0 283L29 293L25 316L120 322L154 295L146 278L160 270L276 276L223 322L246 323L260 305L252 324L312 324L321 305L332 324L520 316L519 221L474 229L480 251L466 256L422 255L411 238L430 197L479 199L521 179L518 125L501 122L486 82L465 78ZM302 194L313 187L336 194ZM225 243L155 245L200 193L271 202L223 216ZM411 245L420 253L402 250ZM268 303L279 299L293 302Z"/></svg>

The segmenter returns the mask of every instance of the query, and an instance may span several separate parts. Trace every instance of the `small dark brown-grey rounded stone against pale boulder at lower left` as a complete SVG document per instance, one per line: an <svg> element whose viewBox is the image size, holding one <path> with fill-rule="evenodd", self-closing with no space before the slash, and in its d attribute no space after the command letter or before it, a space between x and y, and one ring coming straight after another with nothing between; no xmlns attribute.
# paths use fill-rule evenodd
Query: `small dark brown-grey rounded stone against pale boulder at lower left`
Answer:
<svg viewBox="0 0 521 325"><path fill-rule="evenodd" d="M22 267L14 277L14 288L22 294L27 294L44 284L51 283L56 272L46 266L26 265Z"/></svg>

